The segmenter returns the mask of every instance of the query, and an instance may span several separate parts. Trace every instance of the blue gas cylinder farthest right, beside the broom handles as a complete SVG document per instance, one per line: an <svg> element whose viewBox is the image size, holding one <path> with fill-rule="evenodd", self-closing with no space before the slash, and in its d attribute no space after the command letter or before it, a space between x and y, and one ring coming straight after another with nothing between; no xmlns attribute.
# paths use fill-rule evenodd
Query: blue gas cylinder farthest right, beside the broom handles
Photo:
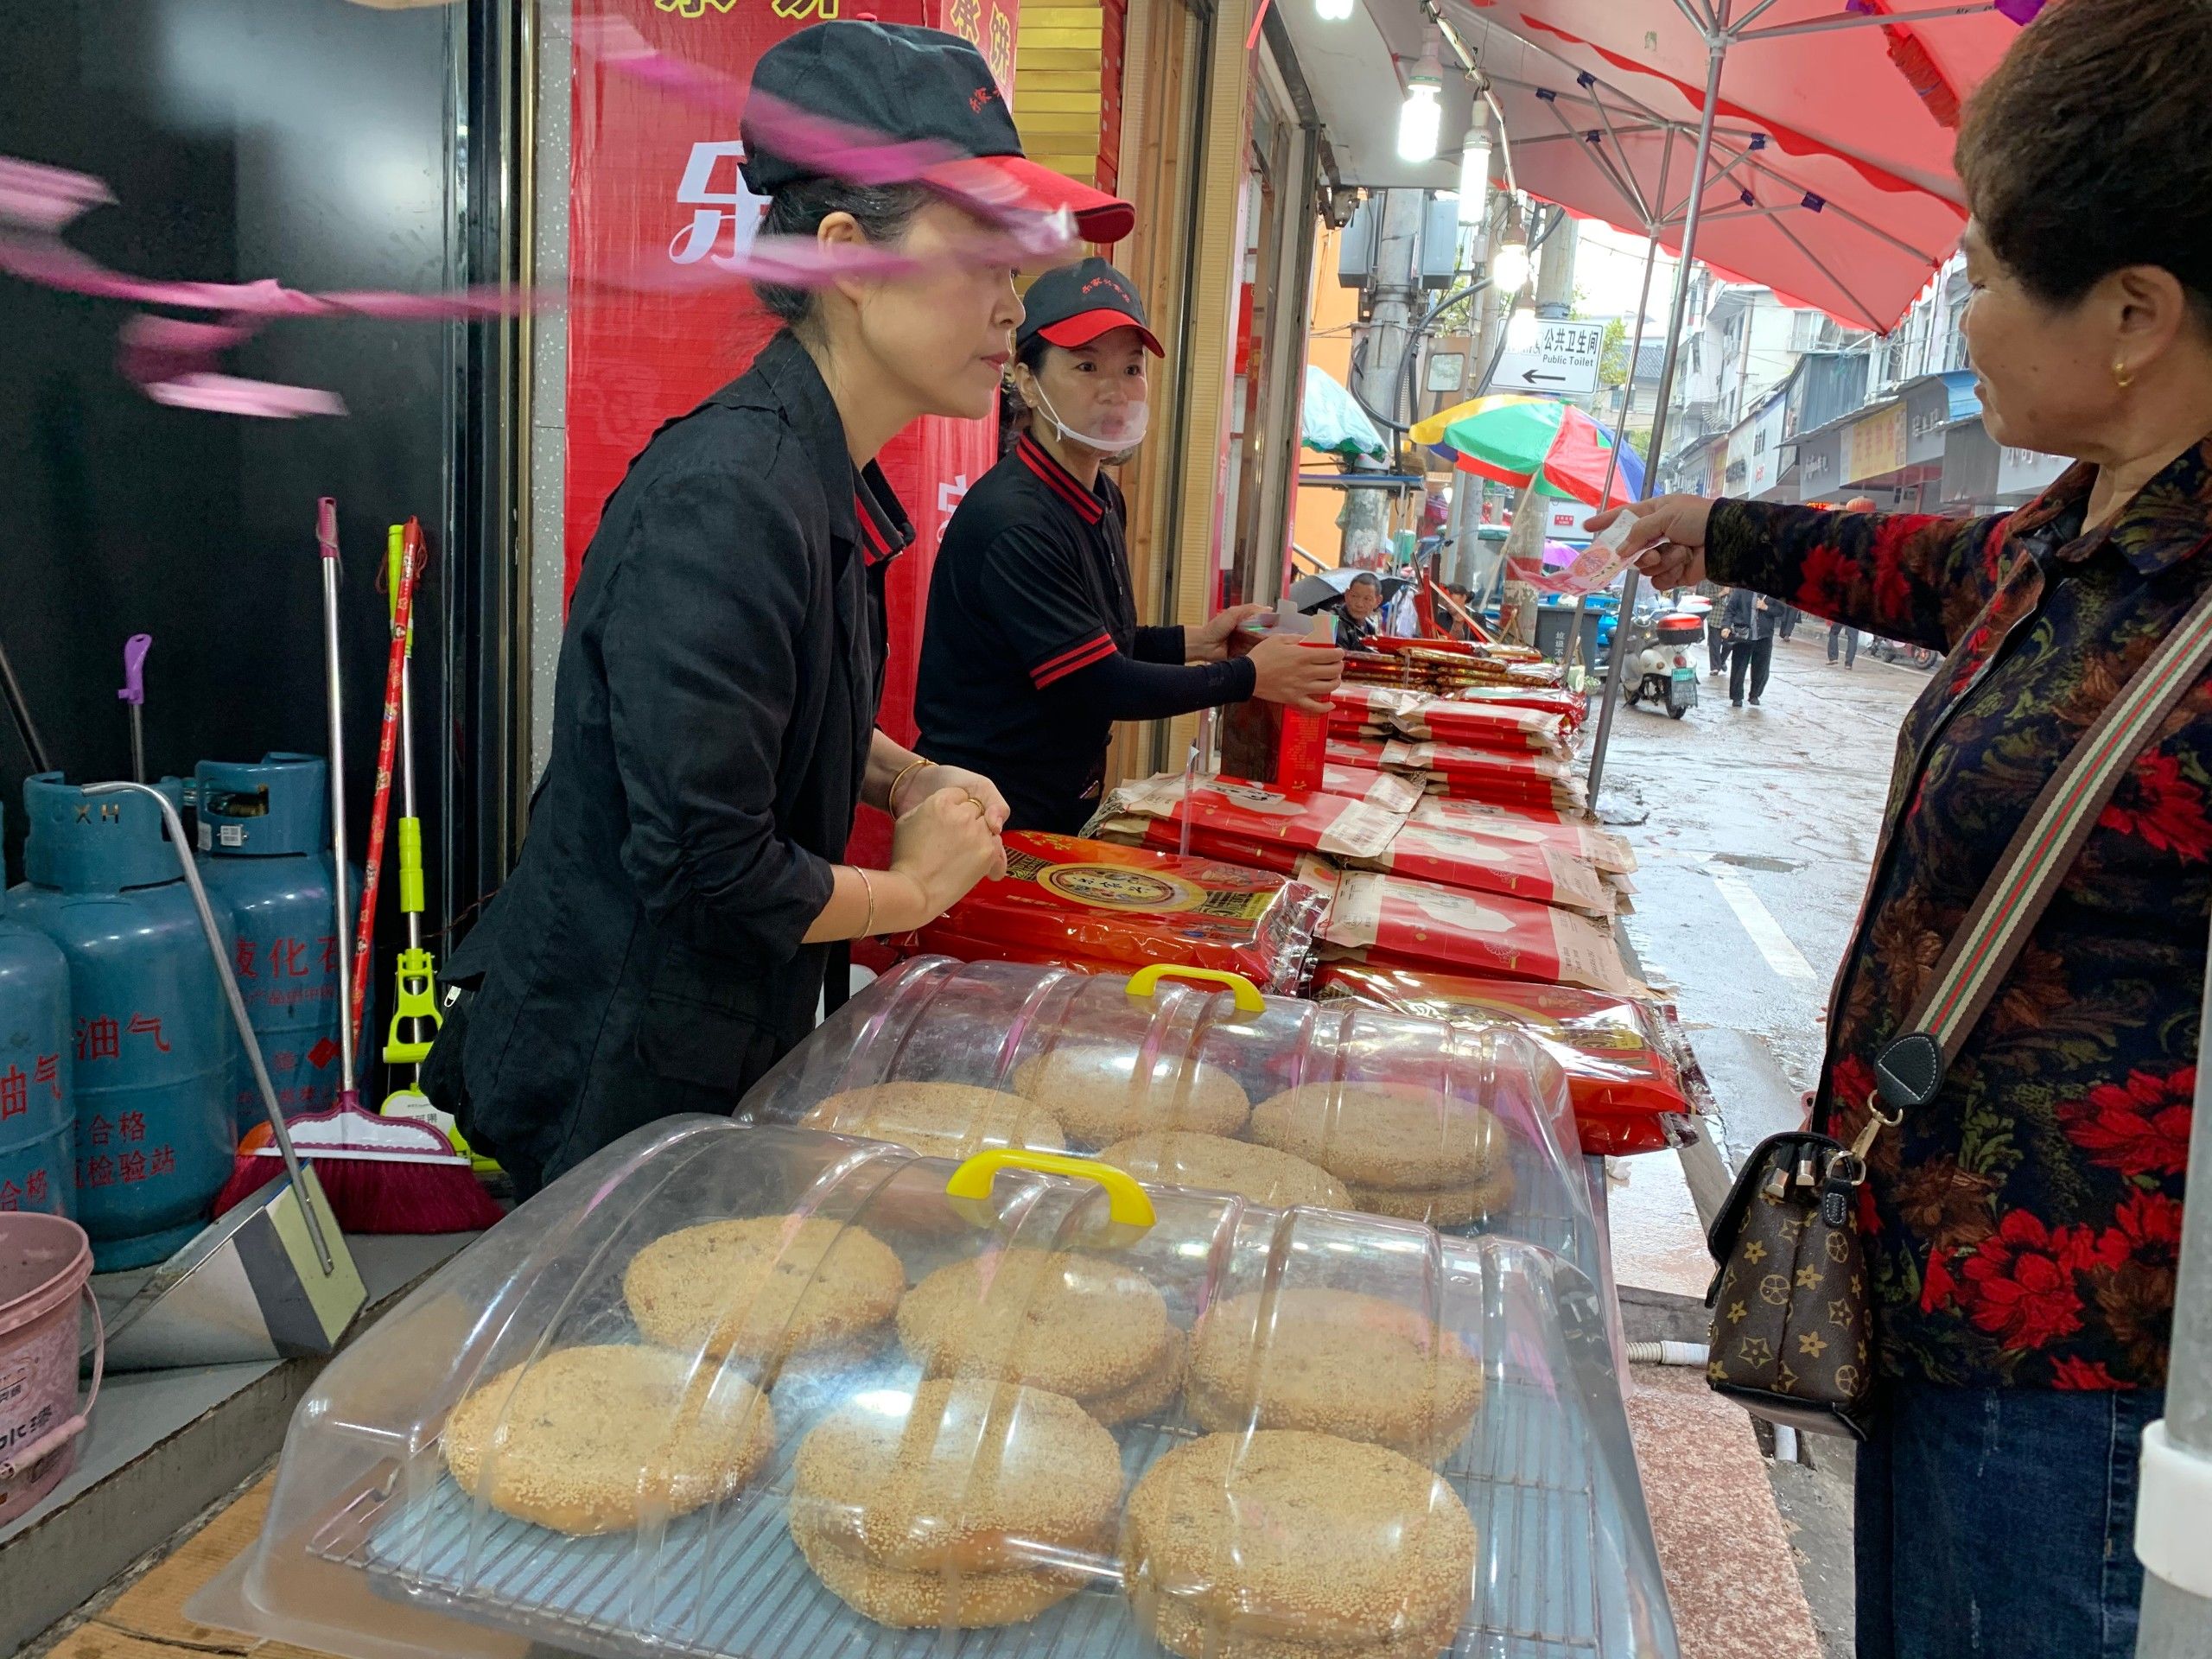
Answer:
<svg viewBox="0 0 2212 1659"><path fill-rule="evenodd" d="M285 1117L338 1104L338 929L330 891L330 772L314 754L201 761L199 874L237 918L230 967ZM361 872L347 889L361 898ZM367 1026L376 1029L374 1020ZM239 1055L239 1133L263 1121Z"/></svg>

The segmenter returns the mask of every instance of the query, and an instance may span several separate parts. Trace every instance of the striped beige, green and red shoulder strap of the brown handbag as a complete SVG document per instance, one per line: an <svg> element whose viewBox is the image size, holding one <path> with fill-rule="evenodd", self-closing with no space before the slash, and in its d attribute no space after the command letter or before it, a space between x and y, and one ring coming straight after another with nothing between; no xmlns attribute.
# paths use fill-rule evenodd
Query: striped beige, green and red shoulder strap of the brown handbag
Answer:
<svg viewBox="0 0 2212 1659"><path fill-rule="evenodd" d="M1880 1084L1874 1108L1882 1121L1893 1124L1907 1108L1936 1099L1944 1071L2011 973L2119 781L2208 666L2212 588L2159 641L2035 796L1966 925L1936 964L1905 1035L1882 1048L1874 1066Z"/></svg>

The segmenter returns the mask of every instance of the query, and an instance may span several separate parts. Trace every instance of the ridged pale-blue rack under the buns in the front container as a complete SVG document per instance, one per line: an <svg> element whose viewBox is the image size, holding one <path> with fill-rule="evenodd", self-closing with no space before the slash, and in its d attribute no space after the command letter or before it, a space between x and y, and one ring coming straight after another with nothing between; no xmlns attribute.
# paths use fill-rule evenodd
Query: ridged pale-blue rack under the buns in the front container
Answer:
<svg viewBox="0 0 2212 1659"><path fill-rule="evenodd" d="M726 1506L670 1522L648 1557L633 1533L566 1537L478 1506L449 1478L414 1500L356 1500L310 1548L400 1599L604 1659L1161 1657L1110 1566L1002 1630L889 1630L838 1601L785 1528L792 1458L832 1405L794 1411L770 1471ZM1181 1420L1124 1429L1130 1480L1192 1433ZM1628 1564L1606 1544L1619 1528L1599 1513L1613 1500L1595 1489L1559 1400L1531 1383L1493 1383L1478 1433L1442 1475L1480 1540L1475 1597L1451 1659L1670 1659L1637 1655Z"/></svg>

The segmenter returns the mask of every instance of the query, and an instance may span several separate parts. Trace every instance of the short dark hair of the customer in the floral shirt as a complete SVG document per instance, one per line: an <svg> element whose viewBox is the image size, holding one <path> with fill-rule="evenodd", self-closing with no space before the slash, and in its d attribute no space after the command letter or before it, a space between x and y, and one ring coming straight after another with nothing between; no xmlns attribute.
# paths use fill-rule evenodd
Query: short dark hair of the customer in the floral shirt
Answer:
<svg viewBox="0 0 2212 1659"><path fill-rule="evenodd" d="M2055 0L1969 102L1958 175L2037 299L2159 265L2212 319L2212 0Z"/></svg>

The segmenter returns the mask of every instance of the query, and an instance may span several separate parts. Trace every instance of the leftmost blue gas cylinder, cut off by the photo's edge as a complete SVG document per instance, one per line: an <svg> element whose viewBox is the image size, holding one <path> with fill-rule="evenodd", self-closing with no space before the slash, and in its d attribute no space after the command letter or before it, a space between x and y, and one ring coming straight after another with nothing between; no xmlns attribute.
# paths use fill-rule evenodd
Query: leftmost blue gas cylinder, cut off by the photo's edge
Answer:
<svg viewBox="0 0 2212 1659"><path fill-rule="evenodd" d="M0 918L0 1210L77 1212L69 960Z"/></svg>

